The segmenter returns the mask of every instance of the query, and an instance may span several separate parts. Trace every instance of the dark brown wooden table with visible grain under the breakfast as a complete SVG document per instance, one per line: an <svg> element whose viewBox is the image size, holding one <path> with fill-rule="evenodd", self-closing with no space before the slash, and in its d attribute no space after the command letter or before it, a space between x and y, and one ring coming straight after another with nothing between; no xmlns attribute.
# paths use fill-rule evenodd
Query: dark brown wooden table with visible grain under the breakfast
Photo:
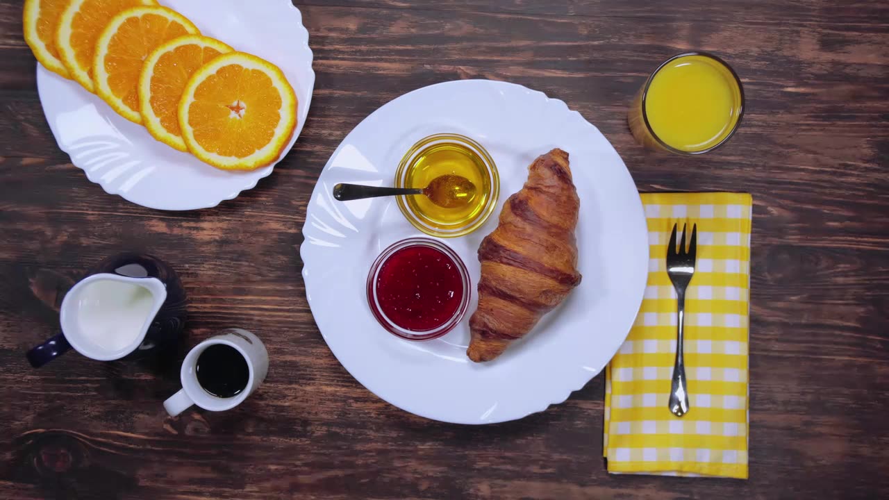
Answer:
<svg viewBox="0 0 889 500"><path fill-rule="evenodd" d="M22 4L0 0L0 497L889 495L887 4L298 4L317 72L300 141L236 200L169 213L107 195L68 163L37 98ZM704 157L645 151L629 101L661 60L691 49L741 75L741 130ZM374 109L461 78L566 101L613 142L639 190L753 193L749 480L609 476L603 375L544 413L467 427L389 406L333 358L300 279L316 177ZM268 380L244 405L166 418L181 357L28 367L25 351L59 328L46 288L124 249L180 271L189 345L230 326L266 340Z"/></svg>

